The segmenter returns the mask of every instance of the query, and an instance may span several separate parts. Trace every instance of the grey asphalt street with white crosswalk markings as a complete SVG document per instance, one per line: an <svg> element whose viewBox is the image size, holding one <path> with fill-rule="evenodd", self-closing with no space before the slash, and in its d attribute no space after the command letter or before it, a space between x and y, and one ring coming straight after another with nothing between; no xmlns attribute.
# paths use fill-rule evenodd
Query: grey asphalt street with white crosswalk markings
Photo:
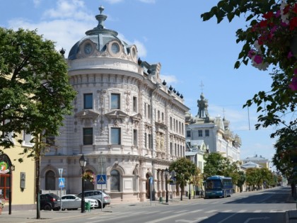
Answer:
<svg viewBox="0 0 297 223"><path fill-rule="evenodd" d="M279 187L247 193L236 193L231 198L192 199L169 202L168 205L115 205L105 207L100 215L63 219L63 222L121 222L121 223L281 223L285 212L296 210L290 200L289 187ZM99 211L99 210L92 210ZM53 221L57 222L57 221Z"/></svg>

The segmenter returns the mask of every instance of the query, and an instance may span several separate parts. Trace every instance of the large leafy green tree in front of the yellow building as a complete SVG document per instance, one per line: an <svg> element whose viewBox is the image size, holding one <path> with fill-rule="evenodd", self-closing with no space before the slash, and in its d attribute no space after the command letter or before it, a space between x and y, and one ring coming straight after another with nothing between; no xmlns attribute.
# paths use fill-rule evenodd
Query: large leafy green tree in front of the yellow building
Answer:
<svg viewBox="0 0 297 223"><path fill-rule="evenodd" d="M45 137L58 135L64 115L71 114L75 95L67 64L54 50L54 42L43 39L36 30L0 28L0 132L4 132L0 146L13 147L12 139L22 131L33 135L35 145L25 148L23 154L34 157L36 163L37 219Z"/></svg>

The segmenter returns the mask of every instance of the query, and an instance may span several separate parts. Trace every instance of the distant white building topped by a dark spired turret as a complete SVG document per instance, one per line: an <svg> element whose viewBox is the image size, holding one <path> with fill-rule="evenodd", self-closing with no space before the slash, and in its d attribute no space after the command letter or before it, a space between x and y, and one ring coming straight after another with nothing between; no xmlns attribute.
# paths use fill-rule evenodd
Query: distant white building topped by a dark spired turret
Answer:
<svg viewBox="0 0 297 223"><path fill-rule="evenodd" d="M198 114L193 118L192 114L186 115L186 141L194 144L197 140L203 140L208 149L207 152L218 152L231 161L240 161L241 139L233 135L225 118L216 116L211 118L208 113L208 101L203 93L197 101Z"/></svg>

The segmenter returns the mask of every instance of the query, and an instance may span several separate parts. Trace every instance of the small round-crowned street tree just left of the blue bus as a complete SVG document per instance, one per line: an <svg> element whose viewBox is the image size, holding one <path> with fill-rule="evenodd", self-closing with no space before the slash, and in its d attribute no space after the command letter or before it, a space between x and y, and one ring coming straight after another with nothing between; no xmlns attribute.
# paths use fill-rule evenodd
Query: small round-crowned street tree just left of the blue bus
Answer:
<svg viewBox="0 0 297 223"><path fill-rule="evenodd" d="M187 181L190 181L192 176L196 176L197 166L189 159L182 157L173 161L169 166L169 171L175 171L176 183L180 185L181 194L180 200L182 200L182 194L184 193L185 185Z"/></svg>

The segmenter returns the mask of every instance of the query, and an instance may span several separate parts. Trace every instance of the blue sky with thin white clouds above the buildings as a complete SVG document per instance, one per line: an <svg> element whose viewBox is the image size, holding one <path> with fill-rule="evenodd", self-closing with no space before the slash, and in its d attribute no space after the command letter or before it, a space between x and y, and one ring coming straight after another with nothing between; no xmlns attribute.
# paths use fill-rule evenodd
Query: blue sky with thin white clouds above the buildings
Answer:
<svg viewBox="0 0 297 223"><path fill-rule="evenodd" d="M207 0L10 0L1 1L0 25L5 28L37 29L56 42L68 55L71 46L98 25L95 15L104 6L105 28L135 44L148 63L161 63L161 76L182 93L190 113L197 115L197 99L204 93L209 115L225 116L231 130L242 139L241 158L255 154L271 159L274 128L255 130L256 108L243 104L258 91L268 91L269 72L243 65L234 69L241 45L235 30L244 18L232 23L203 22L200 15L218 1ZM201 87L203 84L203 88Z"/></svg>

